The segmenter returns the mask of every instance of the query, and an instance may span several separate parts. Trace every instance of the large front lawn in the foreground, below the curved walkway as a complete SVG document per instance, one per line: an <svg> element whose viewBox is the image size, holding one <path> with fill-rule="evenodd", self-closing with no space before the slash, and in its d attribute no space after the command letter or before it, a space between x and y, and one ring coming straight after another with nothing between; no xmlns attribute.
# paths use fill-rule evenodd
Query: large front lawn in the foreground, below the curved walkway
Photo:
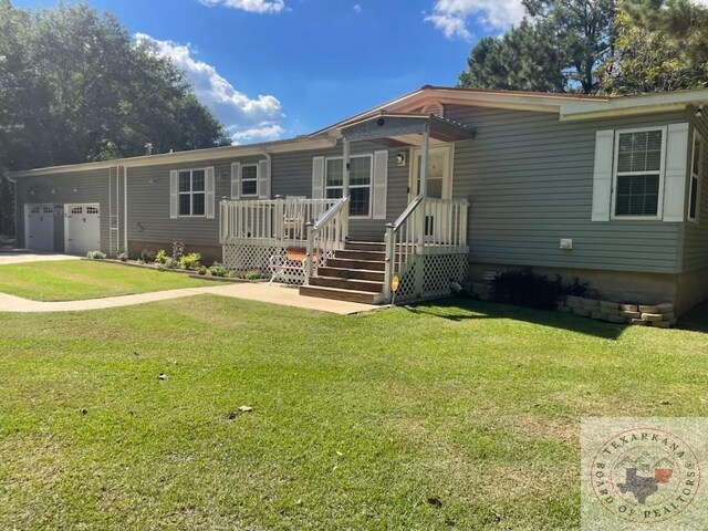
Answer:
<svg viewBox="0 0 708 531"><path fill-rule="evenodd" d="M708 415L702 332L460 304L3 314L0 529L572 530L582 416Z"/></svg>

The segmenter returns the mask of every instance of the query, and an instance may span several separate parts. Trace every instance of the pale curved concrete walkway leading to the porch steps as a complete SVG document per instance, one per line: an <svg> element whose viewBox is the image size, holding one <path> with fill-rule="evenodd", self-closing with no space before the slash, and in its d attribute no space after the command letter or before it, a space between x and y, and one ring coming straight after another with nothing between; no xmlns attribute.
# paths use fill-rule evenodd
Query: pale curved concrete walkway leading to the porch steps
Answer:
<svg viewBox="0 0 708 531"><path fill-rule="evenodd" d="M41 302L22 299L20 296L0 293L0 312L33 313L33 312L80 312L85 310L103 310L107 308L132 306L147 302L167 301L194 295L220 295L249 301L269 302L283 306L302 308L320 312L351 315L379 309L371 304L356 302L330 301L302 296L294 287L266 283L228 283L205 288L186 288L183 290L156 291L135 295L107 296L105 299L90 299L84 301Z"/></svg>

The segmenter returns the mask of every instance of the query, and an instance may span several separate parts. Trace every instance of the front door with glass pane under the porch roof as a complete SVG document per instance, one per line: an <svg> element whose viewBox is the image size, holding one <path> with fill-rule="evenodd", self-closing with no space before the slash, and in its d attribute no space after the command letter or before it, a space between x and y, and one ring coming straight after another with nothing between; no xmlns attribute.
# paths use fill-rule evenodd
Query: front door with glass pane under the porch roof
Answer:
<svg viewBox="0 0 708 531"><path fill-rule="evenodd" d="M428 150L428 192L427 197L436 199L452 198L452 146L431 147ZM410 181L408 185L409 200L420 192L420 149L413 150L410 165ZM434 209L430 209L435 211ZM439 211L446 211L440 209ZM426 241L442 241L447 230L447 219L437 219L435 214L425 217Z"/></svg>

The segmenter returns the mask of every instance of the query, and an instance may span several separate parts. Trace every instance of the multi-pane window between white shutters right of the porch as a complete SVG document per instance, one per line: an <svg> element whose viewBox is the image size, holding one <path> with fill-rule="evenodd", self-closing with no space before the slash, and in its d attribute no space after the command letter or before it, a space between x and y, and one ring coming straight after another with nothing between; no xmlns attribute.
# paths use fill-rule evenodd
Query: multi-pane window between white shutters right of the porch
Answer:
<svg viewBox="0 0 708 531"><path fill-rule="evenodd" d="M665 129L618 132L615 145L616 217L657 217L663 185Z"/></svg>

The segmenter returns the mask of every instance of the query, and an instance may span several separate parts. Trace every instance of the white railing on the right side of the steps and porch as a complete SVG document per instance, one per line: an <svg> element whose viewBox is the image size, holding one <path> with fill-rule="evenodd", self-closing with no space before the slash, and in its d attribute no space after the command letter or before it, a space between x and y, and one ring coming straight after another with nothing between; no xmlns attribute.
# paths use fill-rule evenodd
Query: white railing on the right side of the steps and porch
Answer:
<svg viewBox="0 0 708 531"><path fill-rule="evenodd" d="M419 256L467 254L467 199L416 197L386 226L384 294L391 299L394 275L403 281Z"/></svg>

